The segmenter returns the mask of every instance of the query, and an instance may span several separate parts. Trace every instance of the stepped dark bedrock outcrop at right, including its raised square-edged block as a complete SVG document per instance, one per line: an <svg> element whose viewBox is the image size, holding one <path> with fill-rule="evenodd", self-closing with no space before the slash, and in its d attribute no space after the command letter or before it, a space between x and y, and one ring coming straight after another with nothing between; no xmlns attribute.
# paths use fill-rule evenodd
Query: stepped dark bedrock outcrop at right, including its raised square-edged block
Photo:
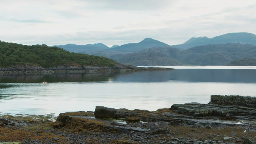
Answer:
<svg viewBox="0 0 256 144"><path fill-rule="evenodd" d="M250 96L211 96L208 104L196 102L174 104L170 110L194 117L199 116L252 116L256 117L256 97ZM228 115L227 115L228 114Z"/></svg>

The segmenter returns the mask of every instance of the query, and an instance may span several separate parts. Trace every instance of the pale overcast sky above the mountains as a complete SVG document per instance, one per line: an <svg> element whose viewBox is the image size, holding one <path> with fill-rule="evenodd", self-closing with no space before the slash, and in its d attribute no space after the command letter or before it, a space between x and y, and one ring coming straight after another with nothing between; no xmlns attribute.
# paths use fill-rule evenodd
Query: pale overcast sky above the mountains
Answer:
<svg viewBox="0 0 256 144"><path fill-rule="evenodd" d="M182 44L256 34L256 0L0 0L0 40L18 44Z"/></svg>

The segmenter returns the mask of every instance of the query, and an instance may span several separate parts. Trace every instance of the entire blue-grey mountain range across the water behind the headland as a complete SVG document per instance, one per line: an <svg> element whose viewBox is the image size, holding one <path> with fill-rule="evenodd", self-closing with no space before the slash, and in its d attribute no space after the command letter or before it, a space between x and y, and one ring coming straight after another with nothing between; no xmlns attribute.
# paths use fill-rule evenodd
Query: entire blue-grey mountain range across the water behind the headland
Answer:
<svg viewBox="0 0 256 144"><path fill-rule="evenodd" d="M233 60L256 58L256 35L228 33L214 38L196 35L184 44L168 45L152 38L141 42L108 46L98 44L57 46L70 52L104 56L136 66L228 65Z"/></svg>

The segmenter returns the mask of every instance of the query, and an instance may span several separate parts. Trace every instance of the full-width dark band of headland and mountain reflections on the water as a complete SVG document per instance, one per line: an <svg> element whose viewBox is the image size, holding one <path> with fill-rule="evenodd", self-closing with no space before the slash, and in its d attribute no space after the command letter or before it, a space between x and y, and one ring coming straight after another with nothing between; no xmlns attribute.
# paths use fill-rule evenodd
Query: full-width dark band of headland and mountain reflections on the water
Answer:
<svg viewBox="0 0 256 144"><path fill-rule="evenodd" d="M255 69L176 69L131 73L2 74L0 83L38 82L231 82L256 83ZM4 88L6 85L0 85Z"/></svg>

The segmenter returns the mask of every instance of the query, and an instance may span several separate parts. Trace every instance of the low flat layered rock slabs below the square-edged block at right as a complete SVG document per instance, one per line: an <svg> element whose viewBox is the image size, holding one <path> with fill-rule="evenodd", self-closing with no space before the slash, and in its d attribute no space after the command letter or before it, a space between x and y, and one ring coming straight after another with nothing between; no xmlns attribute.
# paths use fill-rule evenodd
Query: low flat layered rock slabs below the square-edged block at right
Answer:
<svg viewBox="0 0 256 144"><path fill-rule="evenodd" d="M182 119L204 124L227 124L256 126L255 108L234 105L218 104L174 104L170 108L174 110L173 119ZM196 113L196 117L195 117ZM226 117L230 114L230 117Z"/></svg>

